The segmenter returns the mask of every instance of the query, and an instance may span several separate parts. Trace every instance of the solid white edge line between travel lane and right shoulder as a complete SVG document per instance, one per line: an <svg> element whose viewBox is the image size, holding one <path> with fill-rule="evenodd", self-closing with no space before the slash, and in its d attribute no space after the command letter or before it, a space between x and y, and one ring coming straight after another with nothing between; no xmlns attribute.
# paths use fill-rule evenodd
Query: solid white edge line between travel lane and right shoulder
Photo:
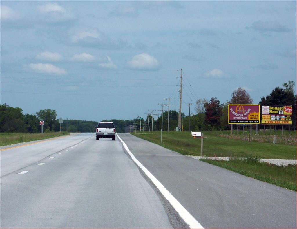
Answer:
<svg viewBox="0 0 297 229"><path fill-rule="evenodd" d="M164 197L169 201L169 203L173 206L173 208L178 212L181 218L190 226L190 228L203 228L202 225L195 220L195 218L187 211L187 209L182 206L177 199L154 177L153 174L143 164L138 161L132 152L127 147L127 144L120 138L118 133L116 133L117 137L120 139L124 148L127 150L128 154L132 158L132 160L142 169L142 171L151 179L151 181L156 185L156 187L160 190L160 192L164 195Z"/></svg>

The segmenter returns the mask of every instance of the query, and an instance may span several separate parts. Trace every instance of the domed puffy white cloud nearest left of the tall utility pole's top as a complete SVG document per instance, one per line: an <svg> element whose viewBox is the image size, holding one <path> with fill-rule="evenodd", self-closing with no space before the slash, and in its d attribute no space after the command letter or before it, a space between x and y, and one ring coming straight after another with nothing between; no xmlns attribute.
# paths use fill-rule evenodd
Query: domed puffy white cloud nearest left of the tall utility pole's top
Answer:
<svg viewBox="0 0 297 229"><path fill-rule="evenodd" d="M160 67L157 59L147 53L135 55L131 61L128 61L127 65L131 69L138 70L157 70Z"/></svg>

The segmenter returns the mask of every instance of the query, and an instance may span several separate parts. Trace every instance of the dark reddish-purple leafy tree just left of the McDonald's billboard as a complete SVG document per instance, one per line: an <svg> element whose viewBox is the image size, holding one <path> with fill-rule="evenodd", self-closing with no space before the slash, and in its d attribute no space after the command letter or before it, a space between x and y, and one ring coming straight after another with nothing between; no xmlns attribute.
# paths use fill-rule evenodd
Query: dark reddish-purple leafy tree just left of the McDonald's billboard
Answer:
<svg viewBox="0 0 297 229"><path fill-rule="evenodd" d="M207 128L219 128L222 116L222 105L220 105L220 101L217 98L211 98L208 103L204 104L204 107Z"/></svg>

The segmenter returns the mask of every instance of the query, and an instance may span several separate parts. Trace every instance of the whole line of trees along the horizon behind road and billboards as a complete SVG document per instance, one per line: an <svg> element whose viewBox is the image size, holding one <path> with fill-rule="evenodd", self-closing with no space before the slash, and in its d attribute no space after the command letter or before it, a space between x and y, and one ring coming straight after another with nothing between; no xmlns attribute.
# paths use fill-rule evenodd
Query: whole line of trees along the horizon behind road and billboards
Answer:
<svg viewBox="0 0 297 229"><path fill-rule="evenodd" d="M289 81L276 87L272 92L260 99L260 106L277 106L277 105L292 105L293 126L296 127L296 94L294 95L295 82ZM209 101L205 98L200 98L195 103L195 113L187 116L181 114L182 125L185 131L189 128L189 118L191 130L226 130L228 124L228 104L253 104L250 95L243 88L239 87L231 94L230 101L221 103L216 97ZM261 109L260 109L261 115ZM44 109L36 112L36 115L23 114L23 110L19 107L11 107L7 104L0 104L0 132L22 132L22 133L40 133L40 120L44 121L43 130L45 132L60 131L60 124L56 119L56 110ZM129 132L134 127L140 130L140 119L142 130L150 130L152 120L151 116L140 118L139 116L132 120L102 120L111 121L116 126L116 131L123 133ZM153 116L154 131L161 130L162 116ZM98 122L86 120L63 120L62 131L68 132L95 132L95 126ZM150 124L150 125L148 125ZM173 131L178 126L178 112L176 110L169 111L169 131ZM129 128L132 127L132 128ZM163 112L163 130L168 129L168 111Z"/></svg>

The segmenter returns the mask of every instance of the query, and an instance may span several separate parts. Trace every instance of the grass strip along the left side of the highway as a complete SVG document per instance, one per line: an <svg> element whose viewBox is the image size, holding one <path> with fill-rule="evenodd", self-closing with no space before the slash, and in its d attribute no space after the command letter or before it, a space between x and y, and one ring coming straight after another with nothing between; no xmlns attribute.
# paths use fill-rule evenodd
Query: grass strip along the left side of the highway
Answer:
<svg viewBox="0 0 297 229"><path fill-rule="evenodd" d="M69 135L68 132L50 132L50 133L0 133L0 146L7 146L20 142L35 141Z"/></svg>

